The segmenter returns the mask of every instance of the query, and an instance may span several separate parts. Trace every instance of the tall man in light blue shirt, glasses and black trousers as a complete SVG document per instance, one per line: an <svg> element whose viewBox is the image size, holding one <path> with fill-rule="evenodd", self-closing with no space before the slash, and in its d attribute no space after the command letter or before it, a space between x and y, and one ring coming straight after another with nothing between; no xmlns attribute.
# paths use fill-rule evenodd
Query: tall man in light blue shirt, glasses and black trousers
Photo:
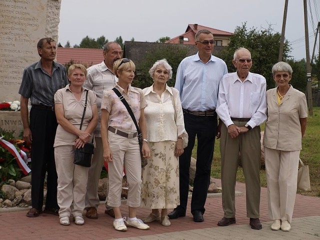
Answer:
<svg viewBox="0 0 320 240"><path fill-rule="evenodd" d="M198 52L184 58L177 69L175 88L180 92L184 125L189 141L179 157L180 205L168 214L170 219L185 216L189 167L195 136L197 137L196 171L193 180L191 213L195 222L203 221L204 204L210 183L215 136L219 137L215 107L219 82L227 73L225 62L211 54L213 34L199 30L195 34ZM219 125L220 126L220 125Z"/></svg>

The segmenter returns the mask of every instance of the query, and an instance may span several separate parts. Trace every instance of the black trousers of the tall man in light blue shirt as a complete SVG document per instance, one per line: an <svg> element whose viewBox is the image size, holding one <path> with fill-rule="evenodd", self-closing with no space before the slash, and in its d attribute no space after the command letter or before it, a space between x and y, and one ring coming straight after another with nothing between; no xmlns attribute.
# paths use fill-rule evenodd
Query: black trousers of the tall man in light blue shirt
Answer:
<svg viewBox="0 0 320 240"><path fill-rule="evenodd" d="M211 163L213 158L215 132L217 127L216 115L195 116L183 112L184 127L188 133L188 145L179 157L180 205L177 210L185 212L189 189L189 167L191 154L197 137L196 170L193 181L191 212L200 210L204 213L208 186L210 184Z"/></svg>

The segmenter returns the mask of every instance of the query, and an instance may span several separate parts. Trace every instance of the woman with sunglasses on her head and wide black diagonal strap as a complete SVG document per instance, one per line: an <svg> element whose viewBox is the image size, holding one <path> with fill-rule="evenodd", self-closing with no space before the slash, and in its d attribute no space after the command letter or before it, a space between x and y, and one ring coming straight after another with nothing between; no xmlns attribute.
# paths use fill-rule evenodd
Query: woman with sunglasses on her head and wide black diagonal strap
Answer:
<svg viewBox="0 0 320 240"><path fill-rule="evenodd" d="M113 72L118 77L115 84L120 94L129 104L142 134L142 154L148 158L150 149L146 142L146 127L144 107L146 101L140 88L132 87L135 65L127 58L118 59L113 64ZM121 98L122 98L121 96ZM119 231L126 231L126 226L138 229L149 229L147 224L136 218L136 209L140 206L141 194L141 156L135 124L117 94L111 90L103 92L101 103L101 137L103 144L103 158L108 163L109 190L107 204L113 207L115 219L113 227ZM129 184L126 204L129 216L122 217L121 190L123 168ZM126 219L126 221L125 221ZM126 222L126 225L124 224Z"/></svg>

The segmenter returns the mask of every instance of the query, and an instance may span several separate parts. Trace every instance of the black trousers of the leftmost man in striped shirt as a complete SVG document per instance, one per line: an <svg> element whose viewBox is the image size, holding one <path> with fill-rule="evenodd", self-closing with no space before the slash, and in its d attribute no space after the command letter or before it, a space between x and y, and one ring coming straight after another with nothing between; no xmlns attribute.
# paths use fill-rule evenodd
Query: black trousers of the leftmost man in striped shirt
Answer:
<svg viewBox="0 0 320 240"><path fill-rule="evenodd" d="M31 108L31 201L32 207L43 205L43 185L46 179L46 208L59 208L56 200L57 174L54 162L54 137L57 127L54 111Z"/></svg>

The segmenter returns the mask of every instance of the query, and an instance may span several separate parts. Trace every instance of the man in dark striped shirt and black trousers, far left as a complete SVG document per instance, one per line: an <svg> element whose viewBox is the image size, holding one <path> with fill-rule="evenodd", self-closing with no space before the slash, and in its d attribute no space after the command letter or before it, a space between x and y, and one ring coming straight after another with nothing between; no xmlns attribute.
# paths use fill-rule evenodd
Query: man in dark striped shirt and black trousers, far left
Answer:
<svg viewBox="0 0 320 240"><path fill-rule="evenodd" d="M37 50L41 58L24 69L19 88L23 139L27 144L32 144L32 208L26 213L29 217L36 217L42 213L46 172L47 193L43 212L58 215L57 174L53 151L57 122L53 95L68 83L65 67L53 61L56 55L55 41L50 37L41 38L37 43ZM27 107L29 98L32 105L30 123Z"/></svg>

